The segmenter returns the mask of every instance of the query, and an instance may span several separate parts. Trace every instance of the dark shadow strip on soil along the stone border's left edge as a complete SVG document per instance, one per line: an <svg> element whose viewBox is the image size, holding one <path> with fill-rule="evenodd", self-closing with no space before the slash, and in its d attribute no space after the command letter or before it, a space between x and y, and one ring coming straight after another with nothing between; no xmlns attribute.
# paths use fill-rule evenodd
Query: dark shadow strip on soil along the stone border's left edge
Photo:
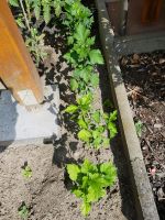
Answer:
<svg viewBox="0 0 165 220"><path fill-rule="evenodd" d="M100 74L100 89L101 89L101 98L102 105L106 100L112 100L111 97L111 88L108 77L107 69L105 67L99 67L98 72ZM107 81L107 84L106 84ZM108 107L103 107L105 111L110 111L112 109ZM119 129L118 129L119 130ZM124 157L123 146L120 139L120 133L117 138L111 141L111 151L114 156L114 164L118 168L118 178L119 178L119 187L122 197L122 212L127 217L128 220L135 220L135 209L133 205L133 193L131 191L131 183L128 174L128 165L127 160Z"/></svg>

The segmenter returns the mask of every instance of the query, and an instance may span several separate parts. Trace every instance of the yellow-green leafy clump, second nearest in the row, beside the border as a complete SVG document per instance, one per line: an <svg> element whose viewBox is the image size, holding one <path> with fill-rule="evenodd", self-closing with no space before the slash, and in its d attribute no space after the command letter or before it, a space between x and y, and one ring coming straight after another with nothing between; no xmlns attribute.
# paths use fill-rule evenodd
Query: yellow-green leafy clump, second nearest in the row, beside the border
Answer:
<svg viewBox="0 0 165 220"><path fill-rule="evenodd" d="M100 148L109 146L110 140L116 136L117 111L103 113L100 110L91 110L91 94L87 94L77 99L77 105L70 105L65 112L70 113L72 119L79 125L78 139L91 147ZM106 131L109 130L110 139Z"/></svg>

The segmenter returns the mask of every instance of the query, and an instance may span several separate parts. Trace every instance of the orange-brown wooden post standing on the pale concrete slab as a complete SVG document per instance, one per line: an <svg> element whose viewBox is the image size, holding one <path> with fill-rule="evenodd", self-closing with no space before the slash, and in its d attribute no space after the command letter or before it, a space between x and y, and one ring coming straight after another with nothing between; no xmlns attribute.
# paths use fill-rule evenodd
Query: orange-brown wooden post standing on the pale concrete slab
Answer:
<svg viewBox="0 0 165 220"><path fill-rule="evenodd" d="M24 106L43 101L38 73L7 0L0 0L0 78Z"/></svg>

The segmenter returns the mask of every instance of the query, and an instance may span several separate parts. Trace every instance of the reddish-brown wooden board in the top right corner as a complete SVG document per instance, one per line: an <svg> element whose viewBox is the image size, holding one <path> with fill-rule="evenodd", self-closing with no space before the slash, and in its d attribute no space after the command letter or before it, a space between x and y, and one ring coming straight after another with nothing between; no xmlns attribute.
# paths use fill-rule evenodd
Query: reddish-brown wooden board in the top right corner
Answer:
<svg viewBox="0 0 165 220"><path fill-rule="evenodd" d="M130 0L127 34L165 30L165 0Z"/></svg>

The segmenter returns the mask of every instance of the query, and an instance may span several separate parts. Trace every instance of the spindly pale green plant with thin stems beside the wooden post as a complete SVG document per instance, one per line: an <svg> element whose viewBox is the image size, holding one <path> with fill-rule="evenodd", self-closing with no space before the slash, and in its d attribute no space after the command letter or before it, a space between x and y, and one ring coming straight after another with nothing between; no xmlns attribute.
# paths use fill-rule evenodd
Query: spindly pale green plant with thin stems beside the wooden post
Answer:
<svg viewBox="0 0 165 220"><path fill-rule="evenodd" d="M12 7L21 8L21 12L16 16L15 21L21 29L25 29L29 33L25 38L25 44L29 47L32 56L35 59L35 64L38 67L41 61L43 61L47 53L44 50L44 34L38 34L36 28L32 28L32 16L33 11L36 19L40 18L40 10L43 6L44 18L48 22L50 21L50 0L9 0L9 3ZM50 3L50 4L48 4Z"/></svg>

